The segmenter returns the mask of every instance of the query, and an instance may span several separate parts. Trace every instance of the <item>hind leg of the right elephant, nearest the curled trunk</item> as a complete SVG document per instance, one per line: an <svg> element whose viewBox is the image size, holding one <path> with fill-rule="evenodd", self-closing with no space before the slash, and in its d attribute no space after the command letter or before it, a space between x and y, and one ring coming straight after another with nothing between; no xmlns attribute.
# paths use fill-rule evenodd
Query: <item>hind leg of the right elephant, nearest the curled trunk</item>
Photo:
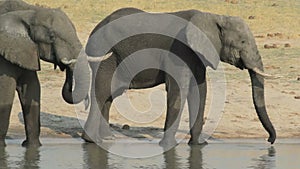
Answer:
<svg viewBox="0 0 300 169"><path fill-rule="evenodd" d="M101 62L100 65L90 65L93 70L91 108L84 126L82 139L91 143L101 143L102 139L109 139L113 137L109 127L109 109L112 103L111 79L114 74L114 69L112 67L114 63L106 63L107 62ZM100 66L99 69L98 66ZM97 69L101 71L96 73Z"/></svg>

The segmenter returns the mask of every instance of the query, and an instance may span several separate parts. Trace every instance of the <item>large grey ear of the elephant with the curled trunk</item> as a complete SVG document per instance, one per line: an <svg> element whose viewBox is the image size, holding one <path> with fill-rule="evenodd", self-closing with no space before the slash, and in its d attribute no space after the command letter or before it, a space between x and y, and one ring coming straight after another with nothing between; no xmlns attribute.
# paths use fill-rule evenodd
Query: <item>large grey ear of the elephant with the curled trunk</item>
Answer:
<svg viewBox="0 0 300 169"><path fill-rule="evenodd" d="M0 57L29 70L40 70L37 45L12 13L0 17Z"/></svg>

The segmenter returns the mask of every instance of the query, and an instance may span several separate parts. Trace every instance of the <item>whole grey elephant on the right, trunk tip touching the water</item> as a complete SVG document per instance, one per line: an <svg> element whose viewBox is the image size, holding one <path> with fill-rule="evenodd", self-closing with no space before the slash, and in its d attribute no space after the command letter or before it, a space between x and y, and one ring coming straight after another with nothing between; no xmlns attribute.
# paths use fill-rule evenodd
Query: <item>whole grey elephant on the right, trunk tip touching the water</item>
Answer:
<svg viewBox="0 0 300 169"><path fill-rule="evenodd" d="M165 55L164 51L170 52ZM167 57L170 53L180 58L183 63L176 63L172 57ZM86 54L94 62L90 64L95 79L95 91L92 95L95 94L95 105L98 105L105 119L101 121L98 117L92 100L92 110L82 136L86 141L95 142L111 135L107 123L109 109L113 99L125 89L149 88L165 83L167 117L160 144L176 144L175 133L179 124L177 117L180 116L183 100L186 98L191 127L189 144L203 143L199 137L207 91L206 67L216 69L219 60L248 70L257 115L269 133L268 141L273 144L276 139L264 100L264 77L268 74L264 73L262 59L249 27L238 17L197 10L147 13L135 8L123 8L107 16L95 27L89 37ZM99 56L104 54L111 56L96 64L101 59ZM131 60L127 59L129 56L132 56ZM142 59L138 60L139 58ZM124 61L127 62L124 64ZM128 76L128 69L153 63L156 64L154 69L150 66L150 69ZM184 64L187 67L182 66ZM121 65L123 68L120 68ZM116 70L120 71L115 76ZM174 71L177 79L169 72L166 73L170 70ZM115 77L117 78L114 79ZM200 98L199 103L195 93Z"/></svg>

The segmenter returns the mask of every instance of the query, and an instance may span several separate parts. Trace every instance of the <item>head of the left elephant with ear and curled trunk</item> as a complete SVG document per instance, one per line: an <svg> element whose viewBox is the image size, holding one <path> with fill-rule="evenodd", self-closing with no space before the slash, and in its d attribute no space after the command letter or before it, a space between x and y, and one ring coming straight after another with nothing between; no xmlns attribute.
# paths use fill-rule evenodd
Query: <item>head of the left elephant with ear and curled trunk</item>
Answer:
<svg viewBox="0 0 300 169"><path fill-rule="evenodd" d="M66 70L62 91L66 102L85 98L88 87L80 86L75 86L76 99L72 98L73 70L82 45L74 25L61 10L37 8L2 14L0 43L0 56L22 68L40 70L42 59Z"/></svg>

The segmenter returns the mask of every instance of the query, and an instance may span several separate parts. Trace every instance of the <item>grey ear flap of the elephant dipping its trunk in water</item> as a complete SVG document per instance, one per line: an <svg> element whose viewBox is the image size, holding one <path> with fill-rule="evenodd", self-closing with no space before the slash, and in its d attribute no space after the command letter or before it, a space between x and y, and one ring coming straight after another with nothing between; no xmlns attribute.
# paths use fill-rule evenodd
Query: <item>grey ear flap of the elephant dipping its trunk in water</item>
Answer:
<svg viewBox="0 0 300 169"><path fill-rule="evenodd" d="M205 66L209 66L216 70L220 62L220 56L206 33L194 23L199 23L199 18L197 18L197 16L192 17L190 22L184 28L185 41Z"/></svg>

